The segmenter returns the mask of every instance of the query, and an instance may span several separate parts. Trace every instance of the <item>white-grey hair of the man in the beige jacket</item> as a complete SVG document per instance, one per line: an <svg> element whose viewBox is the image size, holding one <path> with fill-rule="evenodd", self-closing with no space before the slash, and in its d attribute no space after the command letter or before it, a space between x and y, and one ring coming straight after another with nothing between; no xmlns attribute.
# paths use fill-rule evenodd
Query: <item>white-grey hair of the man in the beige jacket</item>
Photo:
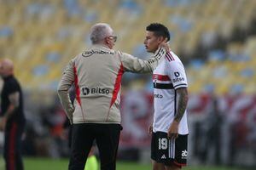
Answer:
<svg viewBox="0 0 256 170"><path fill-rule="evenodd" d="M92 44L101 42L113 33L112 28L106 23L97 23L90 28L90 41Z"/></svg>

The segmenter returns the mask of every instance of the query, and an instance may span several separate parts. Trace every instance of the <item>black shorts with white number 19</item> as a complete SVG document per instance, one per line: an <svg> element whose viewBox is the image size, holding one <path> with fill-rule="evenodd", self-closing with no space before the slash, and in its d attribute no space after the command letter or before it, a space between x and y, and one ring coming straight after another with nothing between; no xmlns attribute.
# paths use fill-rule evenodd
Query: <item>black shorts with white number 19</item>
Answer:
<svg viewBox="0 0 256 170"><path fill-rule="evenodd" d="M166 166L186 166L188 156L188 134L178 135L177 139L167 139L167 133L152 134L151 158Z"/></svg>

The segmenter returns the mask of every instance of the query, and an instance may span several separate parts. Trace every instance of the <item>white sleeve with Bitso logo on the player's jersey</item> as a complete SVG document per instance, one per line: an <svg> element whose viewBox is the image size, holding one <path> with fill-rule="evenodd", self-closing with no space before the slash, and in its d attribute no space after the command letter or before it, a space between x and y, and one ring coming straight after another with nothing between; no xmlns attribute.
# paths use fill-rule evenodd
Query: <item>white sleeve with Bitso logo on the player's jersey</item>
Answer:
<svg viewBox="0 0 256 170"><path fill-rule="evenodd" d="M177 89L188 87L186 72L182 62L178 60L169 62L166 60L166 72L172 81L173 88Z"/></svg>

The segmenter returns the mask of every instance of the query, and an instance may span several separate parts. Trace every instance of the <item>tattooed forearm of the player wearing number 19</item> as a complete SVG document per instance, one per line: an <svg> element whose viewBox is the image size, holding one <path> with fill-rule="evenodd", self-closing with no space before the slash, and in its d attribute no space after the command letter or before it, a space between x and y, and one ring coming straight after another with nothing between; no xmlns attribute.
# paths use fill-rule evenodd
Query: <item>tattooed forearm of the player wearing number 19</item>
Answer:
<svg viewBox="0 0 256 170"><path fill-rule="evenodd" d="M177 89L177 113L174 118L175 121L180 122L183 118L183 114L186 111L189 95L187 88L178 88Z"/></svg>

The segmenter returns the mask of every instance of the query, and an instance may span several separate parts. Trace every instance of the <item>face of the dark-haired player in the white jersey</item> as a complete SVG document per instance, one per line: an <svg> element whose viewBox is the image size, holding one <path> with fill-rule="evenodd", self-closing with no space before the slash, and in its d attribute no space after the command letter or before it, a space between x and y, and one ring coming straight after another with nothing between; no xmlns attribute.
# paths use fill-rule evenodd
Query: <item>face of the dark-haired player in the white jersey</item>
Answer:
<svg viewBox="0 0 256 170"><path fill-rule="evenodd" d="M153 31L146 31L144 45L148 53L154 53L161 42L163 42L163 37L155 36Z"/></svg>

